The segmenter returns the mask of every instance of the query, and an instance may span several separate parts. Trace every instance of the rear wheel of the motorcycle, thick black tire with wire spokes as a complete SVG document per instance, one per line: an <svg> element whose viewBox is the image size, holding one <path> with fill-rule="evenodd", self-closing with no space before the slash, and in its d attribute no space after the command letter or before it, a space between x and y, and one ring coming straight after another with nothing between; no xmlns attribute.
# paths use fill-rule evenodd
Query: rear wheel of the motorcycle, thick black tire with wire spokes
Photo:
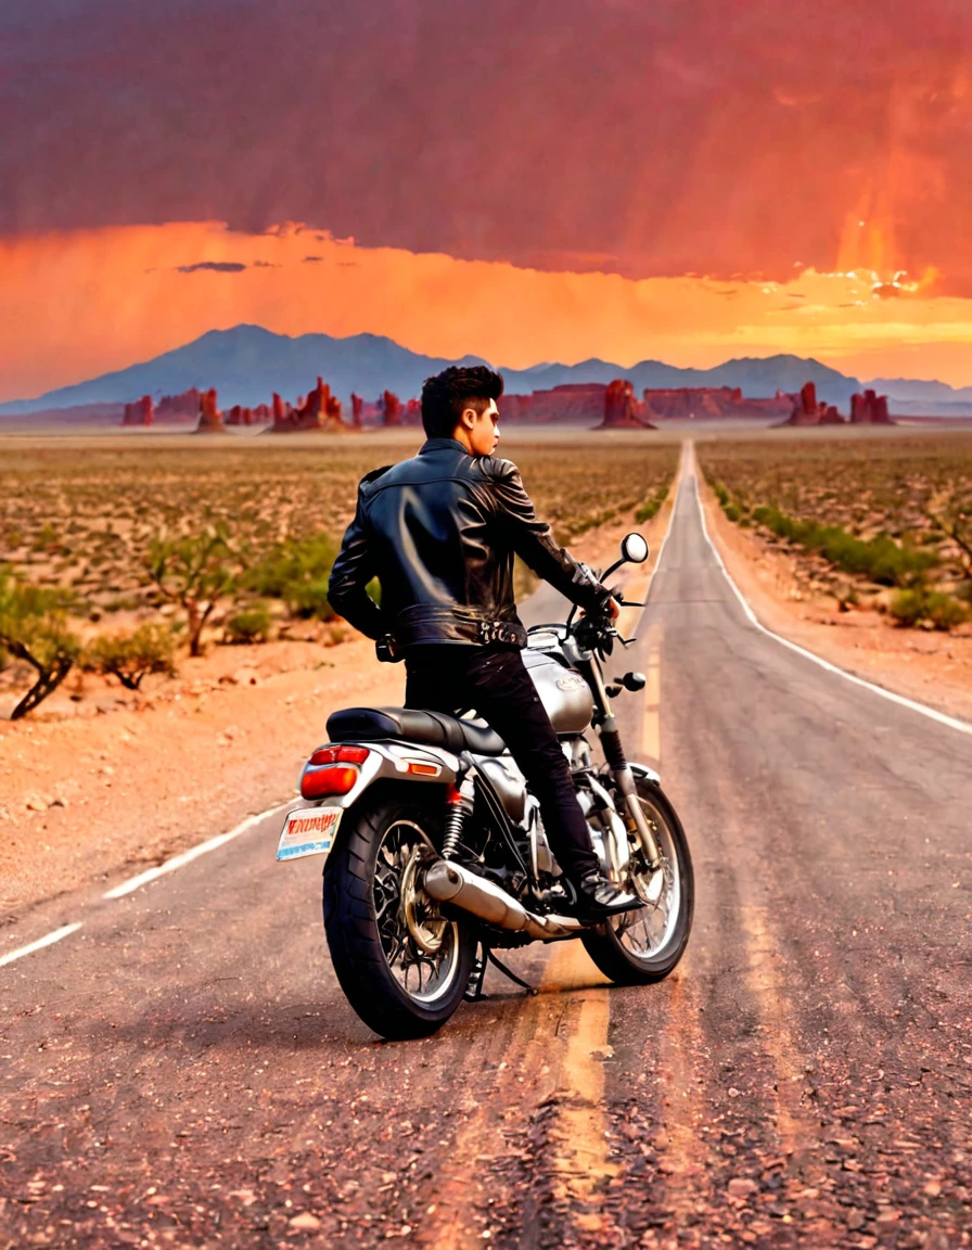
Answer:
<svg viewBox="0 0 972 1250"><path fill-rule="evenodd" d="M462 1001L476 949L471 922L444 920L424 891L409 889L412 848L419 861L437 854L437 816L387 791L366 795L347 815L324 868L324 928L337 980L382 1038L426 1038ZM424 950L415 932L426 948L439 941L437 951Z"/></svg>

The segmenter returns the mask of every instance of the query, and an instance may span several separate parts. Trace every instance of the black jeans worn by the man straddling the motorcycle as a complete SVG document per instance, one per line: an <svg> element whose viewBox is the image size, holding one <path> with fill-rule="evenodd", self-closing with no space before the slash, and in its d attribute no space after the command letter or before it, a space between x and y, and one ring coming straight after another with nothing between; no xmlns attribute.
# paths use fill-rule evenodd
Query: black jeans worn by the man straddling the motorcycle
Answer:
<svg viewBox="0 0 972 1250"><path fill-rule="evenodd" d="M600 868L571 770L520 651L510 646L411 648L406 708L455 714L475 708L502 738L540 802L557 862L573 881Z"/></svg>

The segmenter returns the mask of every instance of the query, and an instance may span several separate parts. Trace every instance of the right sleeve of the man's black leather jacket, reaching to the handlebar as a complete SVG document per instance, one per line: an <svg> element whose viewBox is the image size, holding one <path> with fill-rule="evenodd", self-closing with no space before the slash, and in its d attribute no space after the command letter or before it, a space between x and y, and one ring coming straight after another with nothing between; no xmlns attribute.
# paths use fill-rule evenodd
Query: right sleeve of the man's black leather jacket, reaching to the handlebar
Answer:
<svg viewBox="0 0 972 1250"><path fill-rule="evenodd" d="M611 591L586 572L568 551L557 546L550 526L537 518L516 465L508 460L493 464L496 471L490 476L497 519L512 550L565 599L586 611L597 611L611 598Z"/></svg>

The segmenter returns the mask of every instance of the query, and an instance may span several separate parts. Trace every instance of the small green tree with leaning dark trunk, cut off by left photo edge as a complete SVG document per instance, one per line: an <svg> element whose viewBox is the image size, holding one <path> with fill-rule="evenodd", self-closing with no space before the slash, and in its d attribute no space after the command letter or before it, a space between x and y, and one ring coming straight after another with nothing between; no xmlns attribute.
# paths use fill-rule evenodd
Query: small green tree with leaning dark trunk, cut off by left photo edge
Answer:
<svg viewBox="0 0 972 1250"><path fill-rule="evenodd" d="M81 644L67 628L64 596L15 581L9 570L0 570L0 649L36 674L10 714L11 720L20 720L57 689L80 655Z"/></svg>

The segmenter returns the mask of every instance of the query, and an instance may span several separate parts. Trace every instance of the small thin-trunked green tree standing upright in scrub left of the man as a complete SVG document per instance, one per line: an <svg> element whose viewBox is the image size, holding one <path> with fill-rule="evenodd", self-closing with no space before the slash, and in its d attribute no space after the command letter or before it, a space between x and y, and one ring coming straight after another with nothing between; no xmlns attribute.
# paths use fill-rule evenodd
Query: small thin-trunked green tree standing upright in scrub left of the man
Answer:
<svg viewBox="0 0 972 1250"><path fill-rule="evenodd" d="M237 561L225 525L177 539L154 539L145 568L161 594L185 610L189 654L200 655L202 629L236 581Z"/></svg>

